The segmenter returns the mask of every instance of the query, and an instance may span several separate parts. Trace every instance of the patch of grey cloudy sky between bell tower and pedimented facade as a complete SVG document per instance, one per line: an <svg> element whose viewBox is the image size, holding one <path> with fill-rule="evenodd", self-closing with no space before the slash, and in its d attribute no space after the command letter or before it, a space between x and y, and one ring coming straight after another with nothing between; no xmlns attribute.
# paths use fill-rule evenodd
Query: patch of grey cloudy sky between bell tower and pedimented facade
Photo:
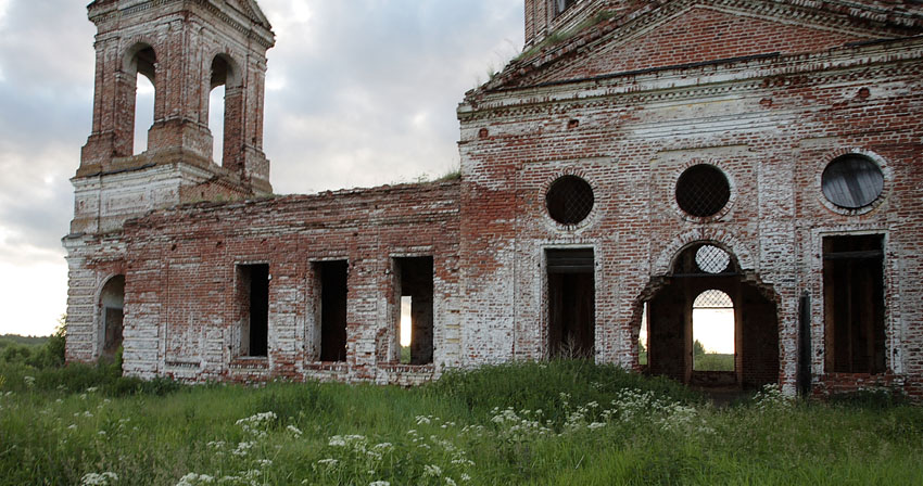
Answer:
<svg viewBox="0 0 923 486"><path fill-rule="evenodd" d="M287 81L267 93L266 151L277 191L374 186L450 169L457 161L455 108L478 77L521 47L521 1L311 5L303 28L315 31L285 30L270 51L270 76L281 65ZM299 55L286 36L321 47ZM427 114L425 127L413 124L419 113Z"/></svg>

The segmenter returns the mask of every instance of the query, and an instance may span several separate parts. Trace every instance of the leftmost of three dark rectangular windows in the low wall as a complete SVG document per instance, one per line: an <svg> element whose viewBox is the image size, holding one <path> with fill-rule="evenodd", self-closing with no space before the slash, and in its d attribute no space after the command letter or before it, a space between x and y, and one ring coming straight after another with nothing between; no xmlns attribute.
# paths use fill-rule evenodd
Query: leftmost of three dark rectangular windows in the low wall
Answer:
<svg viewBox="0 0 923 486"><path fill-rule="evenodd" d="M269 266L238 267L238 299L240 303L240 354L265 357L269 341Z"/></svg>

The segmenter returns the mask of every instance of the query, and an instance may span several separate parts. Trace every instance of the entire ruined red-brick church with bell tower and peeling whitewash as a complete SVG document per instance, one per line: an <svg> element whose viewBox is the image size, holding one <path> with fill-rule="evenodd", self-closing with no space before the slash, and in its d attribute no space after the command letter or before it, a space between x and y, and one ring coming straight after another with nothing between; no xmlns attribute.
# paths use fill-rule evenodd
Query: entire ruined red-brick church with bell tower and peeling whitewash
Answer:
<svg viewBox="0 0 923 486"><path fill-rule="evenodd" d="M93 1L68 360L413 384L578 355L923 396L921 0L524 7L522 54L458 106L460 178L277 196L256 2ZM139 76L155 101L135 155ZM712 307L733 312L733 371L693 364Z"/></svg>

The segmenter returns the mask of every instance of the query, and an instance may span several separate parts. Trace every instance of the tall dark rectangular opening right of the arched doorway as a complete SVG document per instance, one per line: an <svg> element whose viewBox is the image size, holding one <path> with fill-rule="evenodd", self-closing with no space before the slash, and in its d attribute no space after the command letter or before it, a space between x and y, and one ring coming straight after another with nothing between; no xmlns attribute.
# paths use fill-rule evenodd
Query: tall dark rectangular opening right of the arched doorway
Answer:
<svg viewBox="0 0 923 486"><path fill-rule="evenodd" d="M823 254L827 369L845 373L884 372L882 235L824 238Z"/></svg>

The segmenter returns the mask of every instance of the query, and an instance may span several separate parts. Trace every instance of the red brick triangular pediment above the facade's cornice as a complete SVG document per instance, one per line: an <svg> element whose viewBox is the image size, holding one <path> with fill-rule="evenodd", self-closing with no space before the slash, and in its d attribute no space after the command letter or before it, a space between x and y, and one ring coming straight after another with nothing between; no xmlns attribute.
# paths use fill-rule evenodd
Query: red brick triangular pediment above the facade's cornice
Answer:
<svg viewBox="0 0 923 486"><path fill-rule="evenodd" d="M861 12L859 12L861 13ZM827 51L850 42L923 34L923 8L903 22L874 21L772 0L674 0L600 21L540 46L488 85L516 88L761 54ZM915 21L914 21L915 16ZM914 25L915 22L915 25Z"/></svg>

